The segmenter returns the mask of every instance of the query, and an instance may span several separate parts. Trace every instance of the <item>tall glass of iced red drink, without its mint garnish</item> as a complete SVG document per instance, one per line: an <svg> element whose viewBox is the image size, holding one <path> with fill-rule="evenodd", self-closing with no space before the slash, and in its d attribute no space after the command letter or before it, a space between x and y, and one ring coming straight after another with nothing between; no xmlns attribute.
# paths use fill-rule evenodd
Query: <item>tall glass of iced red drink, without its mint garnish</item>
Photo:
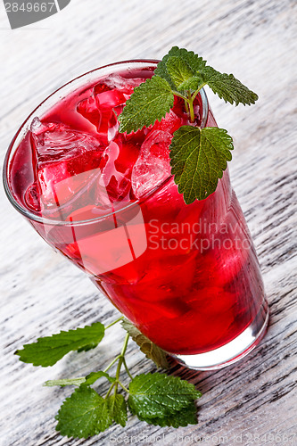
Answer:
<svg viewBox="0 0 297 446"><path fill-rule="evenodd" d="M45 241L82 268L137 328L190 368L222 368L268 326L259 262L228 171L186 205L170 175L184 103L119 133L118 116L155 61L120 62L74 79L12 140L4 187ZM195 125L216 126L202 90Z"/></svg>

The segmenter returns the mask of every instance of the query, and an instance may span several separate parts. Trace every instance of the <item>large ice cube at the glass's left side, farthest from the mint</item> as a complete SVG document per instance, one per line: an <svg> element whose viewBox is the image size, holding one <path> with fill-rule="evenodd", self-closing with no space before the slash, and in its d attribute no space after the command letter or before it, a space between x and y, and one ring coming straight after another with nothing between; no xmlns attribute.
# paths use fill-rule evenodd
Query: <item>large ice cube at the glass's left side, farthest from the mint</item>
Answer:
<svg viewBox="0 0 297 446"><path fill-rule="evenodd" d="M103 149L94 136L35 118L31 141L37 189L45 210L69 203L100 174Z"/></svg>

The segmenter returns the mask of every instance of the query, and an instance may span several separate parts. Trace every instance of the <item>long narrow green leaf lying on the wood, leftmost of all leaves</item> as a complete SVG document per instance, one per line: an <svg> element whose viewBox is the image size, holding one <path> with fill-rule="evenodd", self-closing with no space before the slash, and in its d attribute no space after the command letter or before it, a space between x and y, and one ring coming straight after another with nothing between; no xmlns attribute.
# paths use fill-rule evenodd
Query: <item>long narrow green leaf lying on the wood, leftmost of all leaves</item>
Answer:
<svg viewBox="0 0 297 446"><path fill-rule="evenodd" d="M103 335L103 324L95 322L91 326L39 338L37 343L26 344L15 354L20 356L21 361L32 363L33 366L54 366L70 351L95 348L102 341Z"/></svg>

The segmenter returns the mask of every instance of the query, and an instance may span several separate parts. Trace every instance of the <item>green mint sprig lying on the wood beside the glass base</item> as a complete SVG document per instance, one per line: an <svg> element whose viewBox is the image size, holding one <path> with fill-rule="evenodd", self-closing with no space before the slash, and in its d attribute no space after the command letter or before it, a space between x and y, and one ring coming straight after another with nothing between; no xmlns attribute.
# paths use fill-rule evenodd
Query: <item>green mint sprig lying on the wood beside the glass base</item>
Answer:
<svg viewBox="0 0 297 446"><path fill-rule="evenodd" d="M39 338L37 343L26 344L24 349L17 353L24 362L47 367L56 362L58 356L61 359L63 354L67 354L70 350L82 351L85 346L100 343L106 329L121 319L123 317L105 327L97 322L92 326ZM168 368L169 366L165 351L153 344L128 319L122 320L122 326L128 333L120 355L113 359L104 370L91 372L87 376L45 382L45 385L49 387L76 386L70 397L62 403L55 417L58 421L56 430L62 435L88 438L100 434L114 423L124 427L128 421L128 409L132 415L151 425L179 427L197 424L197 409L194 401L201 396L201 393L196 391L193 384L177 376L158 373L141 374L135 377L131 375L125 358L130 335L140 346L141 351L148 358L153 359L158 367ZM66 343L65 340L68 342ZM46 355L49 359L46 359ZM115 365L115 373L112 376L110 370ZM122 382L122 367L126 370L128 384ZM97 391L97 381L101 378L105 380L105 383L107 381L110 384L105 394ZM95 388L92 387L93 385Z"/></svg>

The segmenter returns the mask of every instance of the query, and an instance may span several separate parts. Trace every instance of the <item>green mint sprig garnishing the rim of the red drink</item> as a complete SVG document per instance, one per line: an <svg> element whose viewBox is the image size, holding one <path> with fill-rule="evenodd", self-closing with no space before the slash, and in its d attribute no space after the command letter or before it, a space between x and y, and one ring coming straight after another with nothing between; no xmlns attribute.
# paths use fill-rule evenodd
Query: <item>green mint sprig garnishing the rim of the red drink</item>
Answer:
<svg viewBox="0 0 297 446"><path fill-rule="evenodd" d="M190 124L173 134L169 151L171 173L187 204L204 200L216 190L233 149L227 130L213 131L194 124L194 99L204 86L235 105L251 105L258 99L233 74L220 73L193 51L174 46L158 63L153 77L135 88L119 117L120 132L130 133L161 121L173 106L175 95L184 99Z"/></svg>

